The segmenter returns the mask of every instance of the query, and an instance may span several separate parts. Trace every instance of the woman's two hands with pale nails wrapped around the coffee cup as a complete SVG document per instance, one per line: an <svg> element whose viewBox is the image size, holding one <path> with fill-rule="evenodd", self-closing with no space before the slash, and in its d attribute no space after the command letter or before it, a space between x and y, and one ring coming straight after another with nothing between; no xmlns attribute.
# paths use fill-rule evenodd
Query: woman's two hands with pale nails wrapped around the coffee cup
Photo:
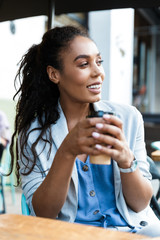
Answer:
<svg viewBox="0 0 160 240"><path fill-rule="evenodd" d="M123 133L123 124L116 116L104 115L103 118L88 118L79 122L76 129L78 135L74 139L77 153L89 155L104 153L117 163L129 159L129 147Z"/></svg>

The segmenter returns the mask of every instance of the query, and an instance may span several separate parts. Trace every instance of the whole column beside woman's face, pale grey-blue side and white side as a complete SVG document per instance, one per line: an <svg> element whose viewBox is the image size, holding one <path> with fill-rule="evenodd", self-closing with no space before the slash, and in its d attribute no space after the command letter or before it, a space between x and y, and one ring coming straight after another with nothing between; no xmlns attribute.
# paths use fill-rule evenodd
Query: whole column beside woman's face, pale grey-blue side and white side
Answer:
<svg viewBox="0 0 160 240"><path fill-rule="evenodd" d="M131 104L134 10L90 12L89 32L104 59L102 99Z"/></svg>

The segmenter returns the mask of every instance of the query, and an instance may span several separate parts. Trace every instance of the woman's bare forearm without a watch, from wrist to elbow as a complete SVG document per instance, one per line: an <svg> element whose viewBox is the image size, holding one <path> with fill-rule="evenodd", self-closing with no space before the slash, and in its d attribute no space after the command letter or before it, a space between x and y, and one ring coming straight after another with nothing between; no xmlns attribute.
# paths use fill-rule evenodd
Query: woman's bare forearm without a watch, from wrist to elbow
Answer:
<svg viewBox="0 0 160 240"><path fill-rule="evenodd" d="M48 175L33 195L37 216L56 218L60 212L67 197L74 159L63 148L57 151Z"/></svg>

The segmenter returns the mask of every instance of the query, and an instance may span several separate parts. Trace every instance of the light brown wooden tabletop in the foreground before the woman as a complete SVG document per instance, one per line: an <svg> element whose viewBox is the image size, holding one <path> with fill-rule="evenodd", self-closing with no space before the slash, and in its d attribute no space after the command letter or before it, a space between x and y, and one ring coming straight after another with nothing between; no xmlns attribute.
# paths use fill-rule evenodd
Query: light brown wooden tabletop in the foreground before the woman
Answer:
<svg viewBox="0 0 160 240"><path fill-rule="evenodd" d="M24 215L0 215L1 240L148 240L138 234Z"/></svg>

